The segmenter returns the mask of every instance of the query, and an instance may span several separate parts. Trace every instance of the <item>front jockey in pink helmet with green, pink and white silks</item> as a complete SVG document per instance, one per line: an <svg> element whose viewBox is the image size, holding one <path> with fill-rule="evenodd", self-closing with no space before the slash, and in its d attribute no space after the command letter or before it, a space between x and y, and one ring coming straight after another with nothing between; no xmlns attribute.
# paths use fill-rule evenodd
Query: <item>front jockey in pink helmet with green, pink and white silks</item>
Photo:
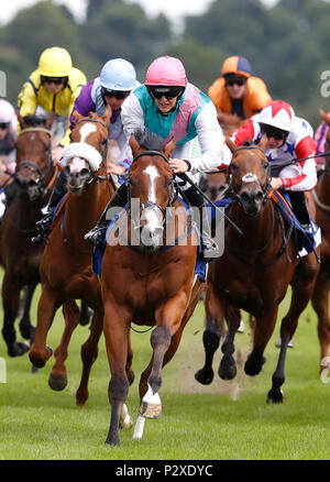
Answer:
<svg viewBox="0 0 330 482"><path fill-rule="evenodd" d="M187 173L198 183L199 173L219 166L230 152L224 143L222 130L217 121L217 112L210 99L187 81L184 65L178 58L156 58L146 72L144 85L133 91L123 106L122 121L129 142L131 134L147 130L167 143L176 141L169 165L174 173ZM198 139L200 154L191 156L193 140ZM201 251L205 260L219 256L219 249L210 237L210 226L206 216L202 196L186 180L176 179L185 197L199 209L201 219ZM99 245L110 221L108 210L124 207L128 186L123 184L110 200L97 226L85 239Z"/></svg>

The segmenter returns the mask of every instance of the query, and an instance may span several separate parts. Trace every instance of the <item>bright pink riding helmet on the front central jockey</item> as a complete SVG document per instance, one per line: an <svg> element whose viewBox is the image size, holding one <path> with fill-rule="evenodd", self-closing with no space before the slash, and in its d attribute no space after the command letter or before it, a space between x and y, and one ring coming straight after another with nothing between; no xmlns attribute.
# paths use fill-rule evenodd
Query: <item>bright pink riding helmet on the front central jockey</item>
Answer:
<svg viewBox="0 0 330 482"><path fill-rule="evenodd" d="M187 77L185 67L178 58L158 57L146 70L146 86L176 86L186 87Z"/></svg>

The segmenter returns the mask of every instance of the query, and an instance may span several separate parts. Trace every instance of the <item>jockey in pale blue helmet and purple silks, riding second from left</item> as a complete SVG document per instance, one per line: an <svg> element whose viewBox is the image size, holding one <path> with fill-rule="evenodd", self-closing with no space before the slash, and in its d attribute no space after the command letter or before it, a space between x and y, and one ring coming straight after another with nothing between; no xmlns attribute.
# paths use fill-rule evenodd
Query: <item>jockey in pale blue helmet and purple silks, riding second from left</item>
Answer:
<svg viewBox="0 0 330 482"><path fill-rule="evenodd" d="M129 158L132 155L123 133L121 107L136 85L139 83L136 81L136 73L133 65L123 58L113 58L103 65L99 77L82 87L73 108L73 110L77 110L81 116L88 117L89 112L97 112L98 116L103 116L107 105L111 107L112 116L108 139L117 141L120 150L118 160L121 163L110 165L110 168L111 172L118 175L122 174L130 166ZM75 120L70 116L70 129L74 127ZM40 234L33 239L34 242L41 241L48 231L54 209L67 191L66 179L66 171L63 169L56 179L47 212L36 222Z"/></svg>

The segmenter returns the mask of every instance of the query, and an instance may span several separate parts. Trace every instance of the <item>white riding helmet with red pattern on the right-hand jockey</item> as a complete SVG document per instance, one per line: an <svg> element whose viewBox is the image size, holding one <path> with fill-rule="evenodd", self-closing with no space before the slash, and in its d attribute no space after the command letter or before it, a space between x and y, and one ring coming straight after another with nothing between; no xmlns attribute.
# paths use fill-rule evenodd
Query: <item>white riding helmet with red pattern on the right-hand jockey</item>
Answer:
<svg viewBox="0 0 330 482"><path fill-rule="evenodd" d="M289 132L294 119L295 112L289 103L284 100L273 100L263 108L256 120L258 123Z"/></svg>

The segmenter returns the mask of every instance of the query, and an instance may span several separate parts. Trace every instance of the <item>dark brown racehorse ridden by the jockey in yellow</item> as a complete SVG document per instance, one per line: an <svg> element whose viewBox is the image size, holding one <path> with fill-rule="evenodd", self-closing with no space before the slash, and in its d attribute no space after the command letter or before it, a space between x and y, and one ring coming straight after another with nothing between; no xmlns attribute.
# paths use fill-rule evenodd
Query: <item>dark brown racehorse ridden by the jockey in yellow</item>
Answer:
<svg viewBox="0 0 330 482"><path fill-rule="evenodd" d="M24 338L33 340L35 328L29 310L33 292L40 283L38 265L43 247L33 244L35 222L46 205L56 177L51 158L50 131L54 117L41 121L34 116L19 116L21 132L16 141L16 168L11 187L15 196L1 222L1 264L4 269L2 303L4 322L2 335L10 357L22 355L29 346L16 341L14 320L19 313L20 293L24 287L24 313L20 330Z"/></svg>

